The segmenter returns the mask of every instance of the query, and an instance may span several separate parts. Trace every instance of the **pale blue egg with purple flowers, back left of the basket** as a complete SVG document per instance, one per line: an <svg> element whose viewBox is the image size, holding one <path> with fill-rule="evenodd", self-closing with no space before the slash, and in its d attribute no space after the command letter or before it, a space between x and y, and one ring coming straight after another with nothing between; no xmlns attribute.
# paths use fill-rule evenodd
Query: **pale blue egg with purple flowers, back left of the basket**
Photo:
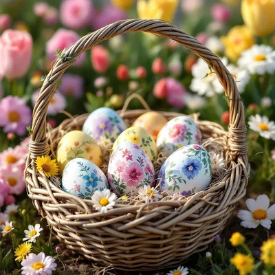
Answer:
<svg viewBox="0 0 275 275"><path fill-rule="evenodd" d="M120 115L107 107L98 108L90 113L83 124L83 132L97 142L107 139L114 142L125 129L126 124Z"/></svg>

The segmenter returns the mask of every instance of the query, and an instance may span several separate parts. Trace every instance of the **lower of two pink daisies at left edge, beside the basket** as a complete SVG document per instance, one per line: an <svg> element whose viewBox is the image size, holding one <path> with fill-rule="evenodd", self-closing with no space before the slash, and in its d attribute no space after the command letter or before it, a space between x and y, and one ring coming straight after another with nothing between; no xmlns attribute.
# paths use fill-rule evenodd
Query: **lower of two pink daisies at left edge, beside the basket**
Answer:
<svg viewBox="0 0 275 275"><path fill-rule="evenodd" d="M20 195L25 190L22 170L17 167L0 167L0 177L8 182L10 194Z"/></svg>

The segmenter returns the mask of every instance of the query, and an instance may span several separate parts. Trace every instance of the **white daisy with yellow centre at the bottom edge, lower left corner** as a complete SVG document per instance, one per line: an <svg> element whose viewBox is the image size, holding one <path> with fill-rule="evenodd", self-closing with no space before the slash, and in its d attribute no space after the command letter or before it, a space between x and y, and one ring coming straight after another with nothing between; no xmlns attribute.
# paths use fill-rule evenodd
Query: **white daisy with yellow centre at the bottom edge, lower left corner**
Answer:
<svg viewBox="0 0 275 275"><path fill-rule="evenodd" d="M44 252L40 252L38 255L34 253L28 254L25 260L21 263L22 275L50 275L56 270L56 263L54 258L46 256Z"/></svg>

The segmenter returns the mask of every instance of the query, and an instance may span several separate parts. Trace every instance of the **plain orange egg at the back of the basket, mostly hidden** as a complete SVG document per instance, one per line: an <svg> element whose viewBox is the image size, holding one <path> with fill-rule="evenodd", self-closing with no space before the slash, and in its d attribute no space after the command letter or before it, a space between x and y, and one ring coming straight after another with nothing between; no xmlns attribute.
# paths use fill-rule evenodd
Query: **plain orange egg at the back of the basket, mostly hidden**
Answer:
<svg viewBox="0 0 275 275"><path fill-rule="evenodd" d="M162 127L168 122L166 118L156 111L148 111L143 115L140 115L134 122L133 126L140 126L146 129L153 136L154 140L157 140L157 135Z"/></svg>

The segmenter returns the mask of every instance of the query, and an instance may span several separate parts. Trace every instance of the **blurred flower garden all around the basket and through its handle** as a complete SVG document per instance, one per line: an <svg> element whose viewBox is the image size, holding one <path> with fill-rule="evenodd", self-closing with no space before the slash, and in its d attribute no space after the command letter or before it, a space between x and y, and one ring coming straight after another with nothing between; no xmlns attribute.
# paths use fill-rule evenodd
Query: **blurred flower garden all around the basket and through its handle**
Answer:
<svg viewBox="0 0 275 275"><path fill-rule="evenodd" d="M210 252L158 274L275 274L274 14L275 0L1 0L0 270L35 274L31 266L40 263L36 270L44 274L120 274L91 271L60 246L28 199L22 173L32 109L52 62L89 32L142 18L174 23L221 57L245 105L251 165L250 198L239 203L230 229L216 236ZM211 68L177 42L142 33L82 54L61 78L47 122L54 128L98 107L121 109L134 93L151 109L229 124L230 99ZM133 100L130 108L143 107Z"/></svg>

